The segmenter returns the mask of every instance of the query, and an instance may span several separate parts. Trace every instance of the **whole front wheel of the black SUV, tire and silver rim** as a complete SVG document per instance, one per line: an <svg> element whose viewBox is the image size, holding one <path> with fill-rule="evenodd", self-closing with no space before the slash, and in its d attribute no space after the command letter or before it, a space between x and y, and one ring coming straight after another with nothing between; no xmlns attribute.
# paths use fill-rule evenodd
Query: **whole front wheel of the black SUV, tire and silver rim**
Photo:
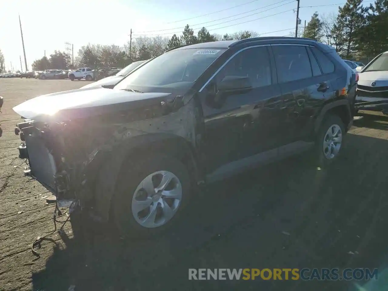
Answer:
<svg viewBox="0 0 388 291"><path fill-rule="evenodd" d="M118 178L112 210L121 235L149 237L173 226L190 197L186 166L171 156L146 158L136 167L126 165Z"/></svg>

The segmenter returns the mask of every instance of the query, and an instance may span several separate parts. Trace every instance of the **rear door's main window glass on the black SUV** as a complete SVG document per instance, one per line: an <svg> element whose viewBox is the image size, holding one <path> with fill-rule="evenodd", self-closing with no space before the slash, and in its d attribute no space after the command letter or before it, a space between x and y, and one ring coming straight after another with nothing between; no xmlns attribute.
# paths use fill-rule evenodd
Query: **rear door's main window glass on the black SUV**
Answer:
<svg viewBox="0 0 388 291"><path fill-rule="evenodd" d="M312 77L310 59L304 46L277 45L272 47L272 49L280 82Z"/></svg>

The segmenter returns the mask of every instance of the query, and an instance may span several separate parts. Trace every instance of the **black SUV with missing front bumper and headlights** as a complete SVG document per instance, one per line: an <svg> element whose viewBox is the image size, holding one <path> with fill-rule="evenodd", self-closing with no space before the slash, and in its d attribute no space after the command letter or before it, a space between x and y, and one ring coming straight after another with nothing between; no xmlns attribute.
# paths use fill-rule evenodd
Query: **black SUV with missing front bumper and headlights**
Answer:
<svg viewBox="0 0 388 291"><path fill-rule="evenodd" d="M141 236L173 225L194 185L309 148L319 165L335 160L354 93L352 70L313 40L199 43L166 51L113 89L30 99L14 107L28 118L15 132L25 175L57 203L70 199Z"/></svg>

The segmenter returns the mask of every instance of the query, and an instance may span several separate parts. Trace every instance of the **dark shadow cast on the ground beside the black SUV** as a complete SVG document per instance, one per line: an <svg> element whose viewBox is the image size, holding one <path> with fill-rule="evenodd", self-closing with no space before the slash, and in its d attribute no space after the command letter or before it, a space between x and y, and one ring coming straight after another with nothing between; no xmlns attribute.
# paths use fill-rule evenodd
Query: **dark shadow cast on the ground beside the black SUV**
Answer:
<svg viewBox="0 0 388 291"><path fill-rule="evenodd" d="M382 283L387 262L388 141L348 134L346 142L341 159L329 170L295 157L210 185L196 194L187 218L168 235L128 242L101 227L74 225L74 238L66 240L66 249L54 247L45 270L32 274L33 288L356 286L353 281L189 281L188 268L379 268L376 282Z"/></svg>

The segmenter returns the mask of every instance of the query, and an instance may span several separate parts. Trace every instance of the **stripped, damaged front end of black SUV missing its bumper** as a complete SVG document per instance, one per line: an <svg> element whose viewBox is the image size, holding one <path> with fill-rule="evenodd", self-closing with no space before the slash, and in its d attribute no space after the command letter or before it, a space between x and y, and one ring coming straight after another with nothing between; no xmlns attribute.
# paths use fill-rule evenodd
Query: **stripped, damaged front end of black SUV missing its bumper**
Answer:
<svg viewBox="0 0 388 291"><path fill-rule="evenodd" d="M170 133L195 143L194 102L184 105L181 96L166 95L170 94L134 106L128 106L132 101L126 102L114 110L109 109L111 104L95 107L94 114L82 118L81 113L72 111L62 114L72 117L64 121L58 120L58 116L24 120L15 128L22 141L19 157L27 163L24 175L38 180L52 192L59 207L75 202L81 209L94 208L98 217L107 219L114 187L106 185L116 182L117 171L123 163L128 163L128 151L136 138ZM101 179L102 168L113 161L114 169L106 170L109 177ZM104 179L105 184L101 182Z"/></svg>

